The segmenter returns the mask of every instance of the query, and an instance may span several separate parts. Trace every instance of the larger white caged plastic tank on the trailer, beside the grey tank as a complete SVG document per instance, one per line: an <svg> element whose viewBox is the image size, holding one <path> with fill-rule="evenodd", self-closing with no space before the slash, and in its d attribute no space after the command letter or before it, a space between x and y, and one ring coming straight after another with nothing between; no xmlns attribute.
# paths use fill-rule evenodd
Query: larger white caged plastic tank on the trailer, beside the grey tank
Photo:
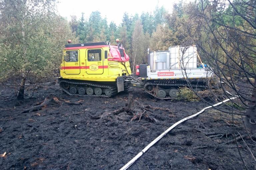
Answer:
<svg viewBox="0 0 256 170"><path fill-rule="evenodd" d="M170 69L197 68L195 46L170 46Z"/></svg>

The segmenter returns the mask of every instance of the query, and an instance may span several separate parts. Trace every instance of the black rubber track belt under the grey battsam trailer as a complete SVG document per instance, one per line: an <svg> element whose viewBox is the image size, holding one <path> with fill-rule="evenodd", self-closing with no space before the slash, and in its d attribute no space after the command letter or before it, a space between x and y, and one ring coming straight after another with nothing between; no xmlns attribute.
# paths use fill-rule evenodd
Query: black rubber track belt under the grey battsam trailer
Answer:
<svg viewBox="0 0 256 170"><path fill-rule="evenodd" d="M198 81L198 79L196 80L196 82ZM152 93L148 92L146 90L146 86L148 85L154 85L154 86L185 86L185 87L189 87L188 84L187 84L187 81L184 81L184 80L153 80L151 82L147 82L145 83L144 85L144 90L150 94L151 96L157 98L157 99L161 99L161 100L164 100L164 99L177 99L177 98L172 98L172 97L166 97L166 98L159 98L155 95L153 95ZM198 88L206 88L207 86L205 85L201 85L201 84L191 84L192 87L198 87Z"/></svg>

